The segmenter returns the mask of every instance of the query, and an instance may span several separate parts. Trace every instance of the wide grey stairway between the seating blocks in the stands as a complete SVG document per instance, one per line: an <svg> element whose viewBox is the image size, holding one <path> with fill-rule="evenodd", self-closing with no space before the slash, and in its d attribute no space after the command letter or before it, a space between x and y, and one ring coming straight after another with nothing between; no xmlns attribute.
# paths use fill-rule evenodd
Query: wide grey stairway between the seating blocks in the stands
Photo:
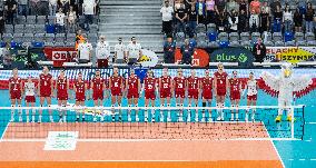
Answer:
<svg viewBox="0 0 316 168"><path fill-rule="evenodd" d="M99 33L110 46L121 37L127 45L136 37L144 49L162 51L161 0L101 0Z"/></svg>

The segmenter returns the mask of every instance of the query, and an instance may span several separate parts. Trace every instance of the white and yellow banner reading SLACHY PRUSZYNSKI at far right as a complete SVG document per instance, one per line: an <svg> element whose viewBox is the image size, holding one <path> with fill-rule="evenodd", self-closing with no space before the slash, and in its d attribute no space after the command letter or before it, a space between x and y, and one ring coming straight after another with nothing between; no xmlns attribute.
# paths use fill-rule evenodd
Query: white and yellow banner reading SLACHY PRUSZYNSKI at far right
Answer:
<svg viewBox="0 0 316 168"><path fill-rule="evenodd" d="M302 61L314 61L315 57L315 47L267 47L265 61L287 61L297 63Z"/></svg>

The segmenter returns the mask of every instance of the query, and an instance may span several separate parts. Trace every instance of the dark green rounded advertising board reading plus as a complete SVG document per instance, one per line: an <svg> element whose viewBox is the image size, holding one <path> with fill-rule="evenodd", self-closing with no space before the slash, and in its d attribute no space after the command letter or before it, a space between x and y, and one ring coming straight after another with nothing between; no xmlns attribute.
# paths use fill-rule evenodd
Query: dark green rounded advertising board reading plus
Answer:
<svg viewBox="0 0 316 168"><path fill-rule="evenodd" d="M251 67L254 55L245 48L223 48L215 49L210 53L210 60L214 62L238 62L240 67Z"/></svg>

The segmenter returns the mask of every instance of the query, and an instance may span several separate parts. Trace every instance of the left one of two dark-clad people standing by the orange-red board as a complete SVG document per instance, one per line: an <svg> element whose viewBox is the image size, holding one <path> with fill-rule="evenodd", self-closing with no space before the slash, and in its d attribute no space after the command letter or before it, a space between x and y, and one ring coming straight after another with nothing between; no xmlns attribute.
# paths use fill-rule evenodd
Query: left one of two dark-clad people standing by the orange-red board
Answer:
<svg viewBox="0 0 316 168"><path fill-rule="evenodd" d="M168 36L167 41L164 45L164 62L175 63L175 52L176 52L176 42L174 42L171 36Z"/></svg>

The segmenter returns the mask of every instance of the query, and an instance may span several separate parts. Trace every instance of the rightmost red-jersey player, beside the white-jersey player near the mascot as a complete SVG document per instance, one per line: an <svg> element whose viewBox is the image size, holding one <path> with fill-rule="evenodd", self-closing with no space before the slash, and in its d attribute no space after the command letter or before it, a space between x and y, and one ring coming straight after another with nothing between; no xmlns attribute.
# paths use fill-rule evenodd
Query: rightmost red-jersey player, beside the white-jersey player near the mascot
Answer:
<svg viewBox="0 0 316 168"><path fill-rule="evenodd" d="M234 121L234 112L236 110L236 120L238 121L238 108L240 102L240 95L243 92L241 89L241 81L237 78L237 71L233 71L233 78L229 79L228 88L230 92L230 105L233 107L231 110L231 118L230 120Z"/></svg>

